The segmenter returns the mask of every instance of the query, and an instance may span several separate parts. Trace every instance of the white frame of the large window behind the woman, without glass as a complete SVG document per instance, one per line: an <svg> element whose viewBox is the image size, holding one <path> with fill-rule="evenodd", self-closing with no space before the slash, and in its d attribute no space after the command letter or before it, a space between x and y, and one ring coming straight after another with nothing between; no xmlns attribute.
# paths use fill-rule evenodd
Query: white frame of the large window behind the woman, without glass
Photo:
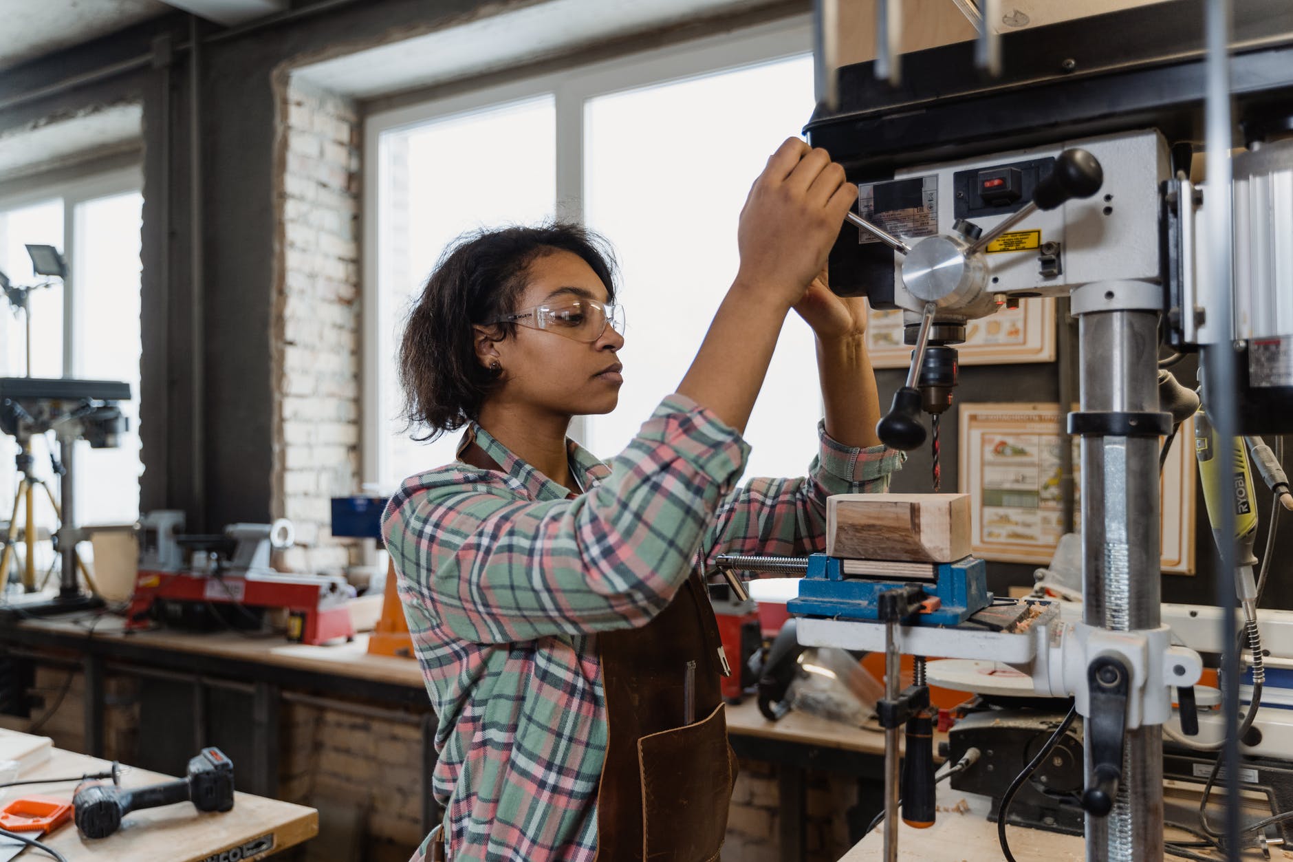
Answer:
<svg viewBox="0 0 1293 862"><path fill-rule="evenodd" d="M369 115L363 132L362 480L375 483L381 476L384 417L390 415L393 408L384 404L380 386L381 364L388 360L378 355L381 343L380 321L387 311L381 303L384 295L390 293L390 286L381 283L379 263L385 251L381 247L383 225L378 202L383 163L381 136L385 132L497 110L551 93L556 106L555 211L559 219L582 223L584 107L590 98L776 62L811 50L811 21L807 16L796 16ZM806 123L807 120L804 116ZM786 133L798 131L786 129ZM680 129L680 133L685 133L685 129ZM577 440L584 437L582 417L572 423L570 435Z"/></svg>

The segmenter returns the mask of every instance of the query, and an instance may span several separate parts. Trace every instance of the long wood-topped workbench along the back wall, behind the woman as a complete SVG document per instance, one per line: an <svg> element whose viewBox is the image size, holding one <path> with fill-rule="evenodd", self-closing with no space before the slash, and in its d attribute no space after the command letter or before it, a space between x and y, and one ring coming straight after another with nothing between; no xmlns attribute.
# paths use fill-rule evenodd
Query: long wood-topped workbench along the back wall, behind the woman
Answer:
<svg viewBox="0 0 1293 862"><path fill-rule="evenodd" d="M436 765L436 716L427 699L422 670L410 659L369 655L366 635L349 643L308 646L287 643L281 637L248 637L233 632L159 629L127 633L115 616L32 619L0 632L3 654L84 673L84 729L89 755L103 753L106 672L187 686L187 694L167 704L168 734L149 733L147 716L141 716L140 733L151 739L175 735L175 727L185 726L185 720L176 716L184 714L194 720L191 739L175 740L175 751L167 755L168 758L154 752L159 761L141 765L176 770L175 764L184 762L193 752L217 744L238 765L239 790L260 796L278 796L277 730L279 707L284 702L416 724L422 733L425 831L441 819L438 805L427 792ZM244 708L217 708L230 698L240 698ZM727 721L737 756L777 766L781 793L778 858L782 862L798 862L806 856L807 771L856 778L860 808L879 809L883 734L796 712L771 722L759 713L753 698L729 707ZM140 753L147 760L144 752Z"/></svg>

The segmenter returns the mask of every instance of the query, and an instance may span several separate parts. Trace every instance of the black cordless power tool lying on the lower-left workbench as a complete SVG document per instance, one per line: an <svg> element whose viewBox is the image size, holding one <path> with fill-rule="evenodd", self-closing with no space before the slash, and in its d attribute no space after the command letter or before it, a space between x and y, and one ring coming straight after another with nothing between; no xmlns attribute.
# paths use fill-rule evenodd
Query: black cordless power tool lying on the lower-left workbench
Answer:
<svg viewBox="0 0 1293 862"><path fill-rule="evenodd" d="M234 806L234 765L219 748L203 748L189 761L186 778L151 787L124 788L106 782L85 783L72 796L76 828L85 837L107 837L131 812L175 802L193 802L199 812L228 812Z"/></svg>

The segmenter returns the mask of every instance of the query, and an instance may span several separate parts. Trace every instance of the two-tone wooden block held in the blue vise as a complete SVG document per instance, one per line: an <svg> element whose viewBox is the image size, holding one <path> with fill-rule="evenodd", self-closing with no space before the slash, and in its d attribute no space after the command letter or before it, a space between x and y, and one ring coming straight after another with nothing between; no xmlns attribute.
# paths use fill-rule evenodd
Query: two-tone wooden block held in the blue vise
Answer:
<svg viewBox="0 0 1293 862"><path fill-rule="evenodd" d="M826 553L953 563L970 554L970 494L834 494L826 500Z"/></svg>

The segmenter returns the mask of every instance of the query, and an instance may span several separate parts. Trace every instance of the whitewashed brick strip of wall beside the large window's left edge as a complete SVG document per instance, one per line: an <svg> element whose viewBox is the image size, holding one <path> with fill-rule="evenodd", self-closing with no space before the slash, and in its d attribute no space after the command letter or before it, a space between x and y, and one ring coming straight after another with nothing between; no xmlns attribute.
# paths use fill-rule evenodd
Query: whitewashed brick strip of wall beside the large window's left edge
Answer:
<svg viewBox="0 0 1293 862"><path fill-rule="evenodd" d="M359 142L354 105L283 87L274 315L275 518L296 524L279 566L336 571L328 498L359 489Z"/></svg>

